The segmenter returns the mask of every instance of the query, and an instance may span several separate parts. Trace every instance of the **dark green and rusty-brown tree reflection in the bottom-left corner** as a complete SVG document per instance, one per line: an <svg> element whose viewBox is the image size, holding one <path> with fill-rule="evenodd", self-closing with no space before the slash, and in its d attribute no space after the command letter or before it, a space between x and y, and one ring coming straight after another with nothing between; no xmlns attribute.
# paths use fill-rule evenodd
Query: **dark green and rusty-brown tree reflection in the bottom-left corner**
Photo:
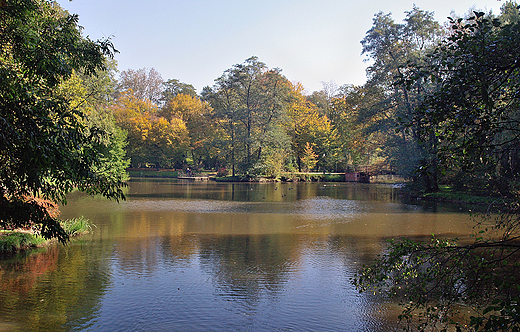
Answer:
<svg viewBox="0 0 520 332"><path fill-rule="evenodd" d="M101 251L100 251L101 250ZM68 331L92 320L110 281L108 261L72 243L0 261L0 312L20 331Z"/></svg>

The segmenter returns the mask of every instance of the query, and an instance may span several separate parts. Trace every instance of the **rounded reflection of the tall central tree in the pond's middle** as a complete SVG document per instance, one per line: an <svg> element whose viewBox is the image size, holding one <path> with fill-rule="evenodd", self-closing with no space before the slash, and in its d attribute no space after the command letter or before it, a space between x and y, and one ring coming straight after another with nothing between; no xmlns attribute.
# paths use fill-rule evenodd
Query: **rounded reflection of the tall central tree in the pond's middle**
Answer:
<svg viewBox="0 0 520 332"><path fill-rule="evenodd" d="M200 259L222 296L251 304L262 293L276 296L298 261L294 236L223 236L202 238Z"/></svg>

